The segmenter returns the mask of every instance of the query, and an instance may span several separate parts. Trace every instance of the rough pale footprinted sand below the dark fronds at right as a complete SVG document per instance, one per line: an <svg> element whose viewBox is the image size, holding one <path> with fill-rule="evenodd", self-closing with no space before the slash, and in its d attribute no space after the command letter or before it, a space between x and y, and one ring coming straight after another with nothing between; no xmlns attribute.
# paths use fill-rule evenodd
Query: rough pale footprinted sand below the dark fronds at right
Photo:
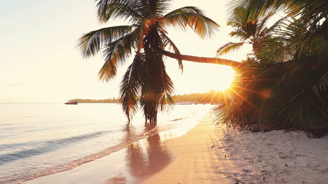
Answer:
<svg viewBox="0 0 328 184"><path fill-rule="evenodd" d="M253 133L231 128L220 134L227 154L253 167L237 175L241 182L328 183L327 136L310 139L303 131Z"/></svg>

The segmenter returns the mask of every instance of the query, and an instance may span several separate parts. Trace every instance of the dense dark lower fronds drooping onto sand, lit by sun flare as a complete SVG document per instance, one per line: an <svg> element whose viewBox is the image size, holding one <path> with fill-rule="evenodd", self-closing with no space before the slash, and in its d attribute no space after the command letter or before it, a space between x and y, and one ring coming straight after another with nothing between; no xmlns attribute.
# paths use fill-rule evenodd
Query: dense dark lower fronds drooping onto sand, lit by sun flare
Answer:
<svg viewBox="0 0 328 184"><path fill-rule="evenodd" d="M212 111L216 123L253 131L302 129L322 136L328 130L327 63L323 54L241 68L233 100Z"/></svg>

